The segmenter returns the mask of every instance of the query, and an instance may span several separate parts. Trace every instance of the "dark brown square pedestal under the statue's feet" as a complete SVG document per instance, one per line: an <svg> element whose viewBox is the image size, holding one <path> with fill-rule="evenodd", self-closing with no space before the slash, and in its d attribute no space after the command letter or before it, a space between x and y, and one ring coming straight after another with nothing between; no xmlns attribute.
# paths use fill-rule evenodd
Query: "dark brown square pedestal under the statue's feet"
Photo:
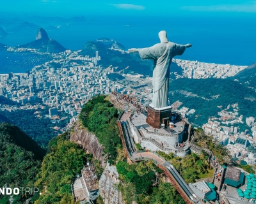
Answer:
<svg viewBox="0 0 256 204"><path fill-rule="evenodd" d="M166 106L164 108L154 108L150 104L148 106L148 115L146 122L153 128L161 128L161 124L167 125L168 120L172 115L171 106Z"/></svg>

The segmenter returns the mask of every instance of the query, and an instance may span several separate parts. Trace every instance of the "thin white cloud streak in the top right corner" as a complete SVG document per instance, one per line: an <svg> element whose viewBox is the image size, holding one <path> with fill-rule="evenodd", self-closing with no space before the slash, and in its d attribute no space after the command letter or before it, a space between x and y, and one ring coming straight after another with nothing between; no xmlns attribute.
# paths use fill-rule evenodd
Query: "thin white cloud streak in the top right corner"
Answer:
<svg viewBox="0 0 256 204"><path fill-rule="evenodd" d="M183 6L182 9L189 11L233 11L256 13L256 1L250 1L244 4L221 4L214 6Z"/></svg>

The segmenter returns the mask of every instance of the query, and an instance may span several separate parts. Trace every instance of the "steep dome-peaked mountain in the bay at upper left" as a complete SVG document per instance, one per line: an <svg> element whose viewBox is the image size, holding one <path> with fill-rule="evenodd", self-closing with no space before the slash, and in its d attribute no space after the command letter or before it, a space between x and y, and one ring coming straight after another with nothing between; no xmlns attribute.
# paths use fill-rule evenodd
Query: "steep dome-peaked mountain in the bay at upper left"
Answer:
<svg viewBox="0 0 256 204"><path fill-rule="evenodd" d="M42 27L36 33L36 40L25 45L20 45L19 48L32 48L39 52L59 53L66 50L65 47L60 45L56 40L49 39L48 34Z"/></svg>

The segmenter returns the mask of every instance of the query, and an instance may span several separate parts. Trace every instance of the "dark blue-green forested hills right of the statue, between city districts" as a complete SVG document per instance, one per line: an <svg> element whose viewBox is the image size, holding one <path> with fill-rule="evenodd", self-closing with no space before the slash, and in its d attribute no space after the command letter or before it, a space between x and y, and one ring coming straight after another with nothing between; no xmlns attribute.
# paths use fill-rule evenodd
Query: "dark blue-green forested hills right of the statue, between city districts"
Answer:
<svg viewBox="0 0 256 204"><path fill-rule="evenodd" d="M211 116L218 116L220 108L217 106L227 108L228 105L238 103L239 114L243 115L244 124L246 117L256 115L256 109L254 108L256 101L244 99L256 99L256 92L233 80L228 80L227 83L227 79L219 78L179 78L170 82L169 90L169 97L172 102L179 100L183 103L182 106L196 110L194 114L189 115L189 122L197 126L205 124ZM180 91L191 92L197 96L185 96L180 94ZM248 129L244 124L239 124L241 131Z"/></svg>

